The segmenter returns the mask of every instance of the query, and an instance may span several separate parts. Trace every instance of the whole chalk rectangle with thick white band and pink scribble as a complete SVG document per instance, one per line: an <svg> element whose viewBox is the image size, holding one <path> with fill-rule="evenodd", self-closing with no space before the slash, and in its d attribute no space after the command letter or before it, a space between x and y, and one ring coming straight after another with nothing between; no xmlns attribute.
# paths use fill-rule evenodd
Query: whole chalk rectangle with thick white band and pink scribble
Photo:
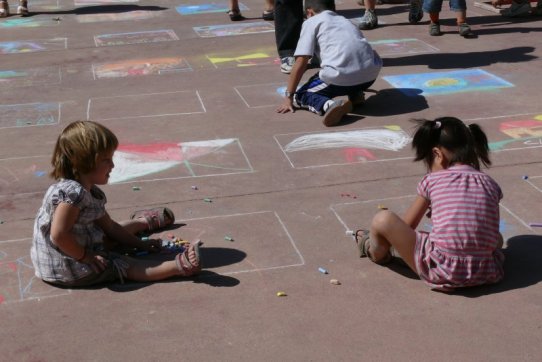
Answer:
<svg viewBox="0 0 542 362"><path fill-rule="evenodd" d="M410 136L396 125L325 133L280 134L275 140L292 168L323 167L360 162L408 159L394 155L410 144Z"/></svg>

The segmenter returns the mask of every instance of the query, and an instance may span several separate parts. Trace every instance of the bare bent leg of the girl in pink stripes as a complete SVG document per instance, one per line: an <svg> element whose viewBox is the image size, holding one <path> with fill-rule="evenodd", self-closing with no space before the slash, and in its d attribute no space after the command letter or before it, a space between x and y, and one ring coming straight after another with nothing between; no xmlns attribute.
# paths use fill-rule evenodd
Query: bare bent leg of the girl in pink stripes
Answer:
<svg viewBox="0 0 542 362"><path fill-rule="evenodd" d="M414 251L416 232L403 219L391 211L380 211L371 223L371 245L369 248L373 261L384 260L390 246L401 255L408 266L416 271Z"/></svg>

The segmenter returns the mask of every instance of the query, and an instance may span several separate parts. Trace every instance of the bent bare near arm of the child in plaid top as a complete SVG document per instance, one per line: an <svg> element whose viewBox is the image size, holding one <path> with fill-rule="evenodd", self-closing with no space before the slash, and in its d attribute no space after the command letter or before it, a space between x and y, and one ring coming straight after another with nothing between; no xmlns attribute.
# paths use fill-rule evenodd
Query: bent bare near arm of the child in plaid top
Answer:
<svg viewBox="0 0 542 362"><path fill-rule="evenodd" d="M62 202L55 209L51 224L51 242L64 254L78 262L88 264L95 272L99 273L106 267L106 260L101 255L96 255L75 240L72 228L79 217L79 208Z"/></svg>

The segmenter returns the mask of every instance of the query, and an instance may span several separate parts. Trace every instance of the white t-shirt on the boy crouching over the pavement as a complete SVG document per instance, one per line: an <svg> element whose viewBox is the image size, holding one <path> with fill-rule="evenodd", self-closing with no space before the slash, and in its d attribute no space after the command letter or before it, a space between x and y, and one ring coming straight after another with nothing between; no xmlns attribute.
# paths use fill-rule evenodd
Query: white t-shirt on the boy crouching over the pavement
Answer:
<svg viewBox="0 0 542 362"><path fill-rule="evenodd" d="M358 28L330 10L308 18L301 28L294 56L313 54L321 60L320 79L327 84L367 83L382 68L382 59Z"/></svg>

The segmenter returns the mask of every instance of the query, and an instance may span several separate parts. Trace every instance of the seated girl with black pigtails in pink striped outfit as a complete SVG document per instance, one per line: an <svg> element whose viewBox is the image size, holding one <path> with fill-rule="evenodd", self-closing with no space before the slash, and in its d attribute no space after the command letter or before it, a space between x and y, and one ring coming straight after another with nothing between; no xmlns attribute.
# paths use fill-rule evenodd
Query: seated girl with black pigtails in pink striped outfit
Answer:
<svg viewBox="0 0 542 362"><path fill-rule="evenodd" d="M503 194L480 170L491 164L485 133L453 117L414 121L414 160L423 161L428 173L403 218L382 210L370 230L356 231L360 256L378 264L399 256L434 290L499 282L504 276ZM416 230L424 214L432 220L430 232Z"/></svg>

